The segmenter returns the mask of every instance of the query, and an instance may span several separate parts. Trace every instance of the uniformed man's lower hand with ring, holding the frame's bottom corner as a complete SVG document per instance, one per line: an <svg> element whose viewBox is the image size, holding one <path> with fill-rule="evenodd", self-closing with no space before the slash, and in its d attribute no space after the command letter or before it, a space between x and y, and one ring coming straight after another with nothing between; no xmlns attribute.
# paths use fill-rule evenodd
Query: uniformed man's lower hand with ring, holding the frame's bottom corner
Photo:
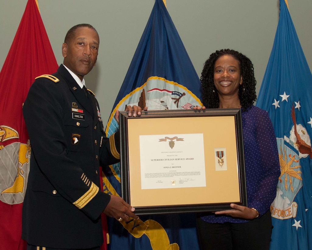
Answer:
<svg viewBox="0 0 312 250"><path fill-rule="evenodd" d="M139 219L139 217L133 213L134 210L135 208L126 203L123 198L111 195L110 202L107 204L103 212L107 216L116 219L122 218L124 221L129 221L130 217Z"/></svg>

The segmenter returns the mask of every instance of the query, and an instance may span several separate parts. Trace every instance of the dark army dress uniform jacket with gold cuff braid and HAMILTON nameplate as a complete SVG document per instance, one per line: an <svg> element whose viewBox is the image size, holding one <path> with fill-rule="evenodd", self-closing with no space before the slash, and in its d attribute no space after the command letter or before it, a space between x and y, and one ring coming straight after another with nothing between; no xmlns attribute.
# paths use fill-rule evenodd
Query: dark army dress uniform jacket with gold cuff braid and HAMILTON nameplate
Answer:
<svg viewBox="0 0 312 250"><path fill-rule="evenodd" d="M37 78L23 106L32 147L22 238L53 248L103 243L99 166L119 162L119 133L105 136L99 105L61 65Z"/></svg>

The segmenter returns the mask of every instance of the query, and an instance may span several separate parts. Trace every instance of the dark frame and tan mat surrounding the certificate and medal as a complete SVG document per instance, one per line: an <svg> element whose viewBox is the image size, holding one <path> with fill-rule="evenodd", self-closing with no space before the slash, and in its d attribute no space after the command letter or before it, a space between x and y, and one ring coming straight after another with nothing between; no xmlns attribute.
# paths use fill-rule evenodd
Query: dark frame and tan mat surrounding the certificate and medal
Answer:
<svg viewBox="0 0 312 250"><path fill-rule="evenodd" d="M137 215L215 212L231 209L231 203L247 206L241 109L143 111L136 118L129 117L128 112L120 112L119 129L122 198L135 207ZM142 134L173 134L175 131L203 135L207 186L140 189L140 144L137 138ZM213 170L215 160L212 157L206 159L206 148L211 151L209 148L214 144L218 146L216 148L224 144L231 155L227 171ZM230 194L224 198L231 192L233 196ZM133 202L134 197L136 202Z"/></svg>

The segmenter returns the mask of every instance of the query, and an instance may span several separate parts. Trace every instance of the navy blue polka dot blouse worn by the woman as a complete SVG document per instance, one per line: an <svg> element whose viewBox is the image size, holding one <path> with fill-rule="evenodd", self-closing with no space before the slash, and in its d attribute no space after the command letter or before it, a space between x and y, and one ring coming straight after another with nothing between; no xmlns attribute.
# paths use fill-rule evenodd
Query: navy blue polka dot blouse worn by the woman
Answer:
<svg viewBox="0 0 312 250"><path fill-rule="evenodd" d="M252 106L242 113L248 207L263 215L276 196L280 163L274 128L268 113ZM241 223L249 220L202 213L206 222Z"/></svg>

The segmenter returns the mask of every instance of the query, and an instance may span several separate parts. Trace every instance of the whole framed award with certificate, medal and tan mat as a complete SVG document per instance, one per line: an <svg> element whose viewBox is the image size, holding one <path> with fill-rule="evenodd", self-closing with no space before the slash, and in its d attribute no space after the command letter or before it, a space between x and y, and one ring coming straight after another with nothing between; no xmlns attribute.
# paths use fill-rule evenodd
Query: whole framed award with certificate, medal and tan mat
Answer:
<svg viewBox="0 0 312 250"><path fill-rule="evenodd" d="M241 109L119 113L121 189L135 213L247 206Z"/></svg>

